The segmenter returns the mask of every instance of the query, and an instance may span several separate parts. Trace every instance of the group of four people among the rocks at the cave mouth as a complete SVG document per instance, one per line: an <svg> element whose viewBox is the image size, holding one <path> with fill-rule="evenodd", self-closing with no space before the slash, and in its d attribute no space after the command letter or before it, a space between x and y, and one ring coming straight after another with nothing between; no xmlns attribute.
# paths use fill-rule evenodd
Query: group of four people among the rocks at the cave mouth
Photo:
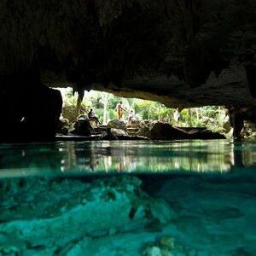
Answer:
<svg viewBox="0 0 256 256"><path fill-rule="evenodd" d="M118 119L119 120L122 119L123 111L125 110L123 108L123 102L118 102L115 107L115 110L116 110ZM93 113L92 108L90 108L90 111L87 113L87 115L90 120L95 121L97 127L98 127L98 125L102 125L100 123L99 119L96 117L95 113ZM179 114L178 108L174 112L173 119L175 120L175 125L176 126L179 125L180 114ZM135 114L134 114L133 110L131 109L129 116L128 116L128 125L132 125L134 122L135 122Z"/></svg>

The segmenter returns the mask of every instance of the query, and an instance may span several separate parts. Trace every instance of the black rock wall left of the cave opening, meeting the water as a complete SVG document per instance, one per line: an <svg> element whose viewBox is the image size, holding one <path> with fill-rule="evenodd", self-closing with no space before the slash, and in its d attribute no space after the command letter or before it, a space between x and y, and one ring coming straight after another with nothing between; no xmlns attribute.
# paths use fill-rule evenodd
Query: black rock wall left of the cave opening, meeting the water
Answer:
<svg viewBox="0 0 256 256"><path fill-rule="evenodd" d="M61 92L32 77L12 77L1 84L0 143L54 139L61 115Z"/></svg>

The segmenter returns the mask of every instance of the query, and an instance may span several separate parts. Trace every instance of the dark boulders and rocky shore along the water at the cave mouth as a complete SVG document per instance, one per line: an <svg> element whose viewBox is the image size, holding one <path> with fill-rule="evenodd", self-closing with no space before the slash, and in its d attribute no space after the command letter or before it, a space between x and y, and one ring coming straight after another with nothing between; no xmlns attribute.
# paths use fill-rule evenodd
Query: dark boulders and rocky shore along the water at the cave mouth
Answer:
<svg viewBox="0 0 256 256"><path fill-rule="evenodd" d="M61 122L56 139L61 140L178 140L225 139L224 135L205 127L174 127L168 123L137 121L134 125L114 119L108 125L93 127L88 119L71 124Z"/></svg>

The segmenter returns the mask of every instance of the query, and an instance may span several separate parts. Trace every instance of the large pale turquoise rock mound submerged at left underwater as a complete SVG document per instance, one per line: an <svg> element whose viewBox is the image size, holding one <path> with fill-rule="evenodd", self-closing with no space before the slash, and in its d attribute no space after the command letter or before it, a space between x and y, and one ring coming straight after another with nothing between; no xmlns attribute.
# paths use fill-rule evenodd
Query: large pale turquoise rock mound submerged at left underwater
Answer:
<svg viewBox="0 0 256 256"><path fill-rule="evenodd" d="M20 179L3 183L1 194L5 189L20 187ZM72 180L52 183L32 178L19 190L11 190L15 200L10 200L9 195L3 196L0 229L10 240L26 244L21 248L21 255L25 255L26 250L31 250L31 254L50 252L48 255L53 255L60 247L64 250L85 237L108 236L109 230L112 230L111 236L142 230L159 216L154 211L155 200L151 201L140 184L137 177L112 177L92 183ZM26 196L19 195L26 195L28 188L30 195L26 200ZM21 201L24 201L22 208L15 207ZM173 218L170 207L162 201L157 205L169 212L159 222L170 221Z"/></svg>

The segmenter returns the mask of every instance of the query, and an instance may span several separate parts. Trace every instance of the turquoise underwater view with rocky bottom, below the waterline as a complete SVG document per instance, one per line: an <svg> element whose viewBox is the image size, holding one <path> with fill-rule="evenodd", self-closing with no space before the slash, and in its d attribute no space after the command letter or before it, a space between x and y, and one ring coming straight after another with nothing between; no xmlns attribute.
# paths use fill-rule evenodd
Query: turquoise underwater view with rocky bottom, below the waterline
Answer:
<svg viewBox="0 0 256 256"><path fill-rule="evenodd" d="M1 180L3 255L254 255L255 178Z"/></svg>

